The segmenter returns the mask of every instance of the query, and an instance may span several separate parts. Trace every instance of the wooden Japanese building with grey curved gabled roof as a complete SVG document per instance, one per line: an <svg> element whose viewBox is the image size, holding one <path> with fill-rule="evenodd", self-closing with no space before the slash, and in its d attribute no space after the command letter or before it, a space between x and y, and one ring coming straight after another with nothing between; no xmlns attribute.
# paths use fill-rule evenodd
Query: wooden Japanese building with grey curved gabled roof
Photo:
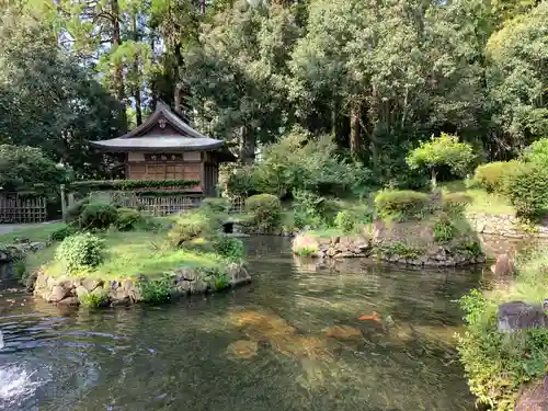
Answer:
<svg viewBox="0 0 548 411"><path fill-rule="evenodd" d="M190 191L215 195L220 162L233 161L225 142L206 137L159 102L156 111L129 133L92 141L103 152L121 156L129 180L196 180Z"/></svg>

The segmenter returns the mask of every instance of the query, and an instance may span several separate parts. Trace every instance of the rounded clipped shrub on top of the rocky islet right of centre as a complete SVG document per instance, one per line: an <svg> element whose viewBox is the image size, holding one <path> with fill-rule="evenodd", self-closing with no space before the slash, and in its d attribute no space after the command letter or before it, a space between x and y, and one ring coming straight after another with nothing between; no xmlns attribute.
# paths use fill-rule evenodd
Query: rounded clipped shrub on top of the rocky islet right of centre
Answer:
<svg viewBox="0 0 548 411"><path fill-rule="evenodd" d="M384 190L375 196L375 207L381 218L422 218L429 209L427 194L410 190Z"/></svg>

